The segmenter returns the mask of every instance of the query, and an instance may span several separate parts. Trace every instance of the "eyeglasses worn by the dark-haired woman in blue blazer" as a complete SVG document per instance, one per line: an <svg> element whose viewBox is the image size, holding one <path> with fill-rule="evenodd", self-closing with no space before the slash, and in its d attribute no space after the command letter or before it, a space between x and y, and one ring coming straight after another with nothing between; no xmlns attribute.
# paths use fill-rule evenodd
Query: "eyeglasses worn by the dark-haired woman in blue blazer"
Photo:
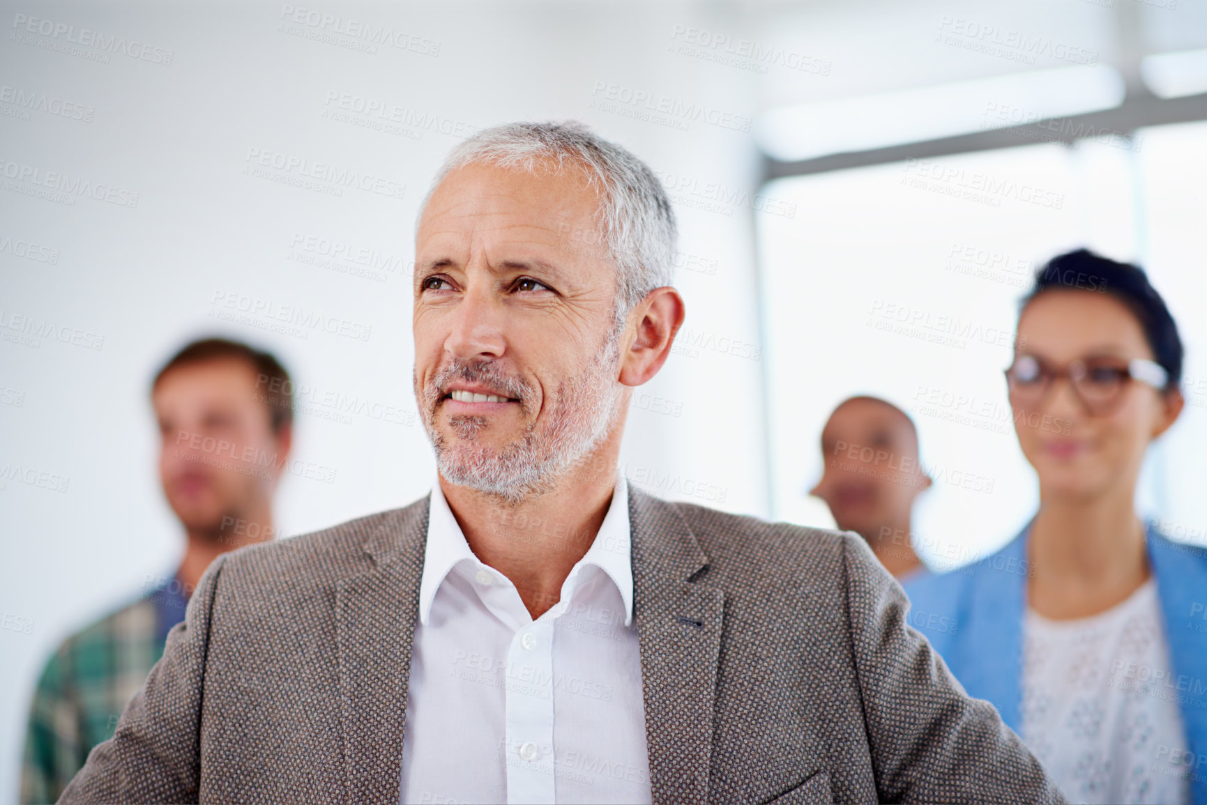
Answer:
<svg viewBox="0 0 1207 805"><path fill-rule="evenodd" d="M1161 364L1144 358L1089 357L1057 369L1033 355L1020 355L1005 371L1010 402L1034 407L1044 401L1053 380L1068 378L1073 393L1090 414L1109 413L1123 399L1124 387L1139 380L1161 391L1170 380Z"/></svg>

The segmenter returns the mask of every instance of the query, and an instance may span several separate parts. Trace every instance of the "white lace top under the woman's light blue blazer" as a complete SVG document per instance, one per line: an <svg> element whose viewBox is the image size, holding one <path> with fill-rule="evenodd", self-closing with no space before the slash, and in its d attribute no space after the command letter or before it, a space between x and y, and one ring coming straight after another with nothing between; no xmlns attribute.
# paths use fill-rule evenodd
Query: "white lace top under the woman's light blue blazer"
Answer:
<svg viewBox="0 0 1207 805"><path fill-rule="evenodd" d="M1022 622L1022 740L1071 803L1190 801L1156 583L1089 618Z"/></svg>

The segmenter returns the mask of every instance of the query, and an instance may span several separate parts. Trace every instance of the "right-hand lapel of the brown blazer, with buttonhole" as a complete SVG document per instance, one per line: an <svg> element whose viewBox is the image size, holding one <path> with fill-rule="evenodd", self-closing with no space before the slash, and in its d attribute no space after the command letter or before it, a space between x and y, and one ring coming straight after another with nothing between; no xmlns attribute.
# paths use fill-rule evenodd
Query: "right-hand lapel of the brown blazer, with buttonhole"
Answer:
<svg viewBox="0 0 1207 805"><path fill-rule="evenodd" d="M670 503L629 485L634 620L655 803L705 803L724 595L689 579L707 566Z"/></svg>

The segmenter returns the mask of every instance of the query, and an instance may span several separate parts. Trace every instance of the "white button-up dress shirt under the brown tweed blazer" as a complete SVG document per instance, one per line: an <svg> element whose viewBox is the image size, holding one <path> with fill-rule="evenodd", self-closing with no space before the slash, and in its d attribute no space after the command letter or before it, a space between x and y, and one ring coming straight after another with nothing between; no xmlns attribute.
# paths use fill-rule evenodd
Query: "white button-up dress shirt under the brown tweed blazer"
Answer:
<svg viewBox="0 0 1207 805"><path fill-rule="evenodd" d="M556 550L558 524L507 524ZM629 490L532 620L437 483L407 688L400 803L649 803Z"/></svg>

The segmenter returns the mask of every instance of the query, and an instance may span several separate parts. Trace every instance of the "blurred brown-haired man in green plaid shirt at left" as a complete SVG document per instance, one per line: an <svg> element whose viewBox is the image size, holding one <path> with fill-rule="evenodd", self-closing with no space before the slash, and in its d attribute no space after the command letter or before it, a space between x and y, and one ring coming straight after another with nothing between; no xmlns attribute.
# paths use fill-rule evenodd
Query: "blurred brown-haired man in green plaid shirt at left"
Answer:
<svg viewBox="0 0 1207 805"><path fill-rule="evenodd" d="M148 576L138 600L68 637L46 664L30 708L22 801L58 799L92 747L113 735L214 558L272 538L273 492L292 439L290 392L275 357L220 338L188 344L156 375L159 482L185 555L169 578Z"/></svg>

